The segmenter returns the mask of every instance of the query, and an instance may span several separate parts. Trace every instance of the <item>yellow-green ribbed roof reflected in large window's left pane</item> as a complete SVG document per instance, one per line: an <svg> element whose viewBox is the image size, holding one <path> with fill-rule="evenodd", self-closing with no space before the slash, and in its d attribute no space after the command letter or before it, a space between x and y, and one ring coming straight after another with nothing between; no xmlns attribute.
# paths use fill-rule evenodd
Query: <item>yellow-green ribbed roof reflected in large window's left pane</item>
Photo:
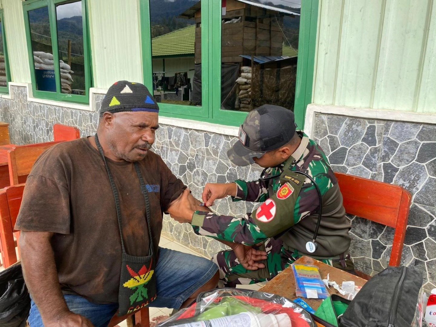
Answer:
<svg viewBox="0 0 436 327"><path fill-rule="evenodd" d="M174 56L195 53L195 25L154 37L152 56Z"/></svg>

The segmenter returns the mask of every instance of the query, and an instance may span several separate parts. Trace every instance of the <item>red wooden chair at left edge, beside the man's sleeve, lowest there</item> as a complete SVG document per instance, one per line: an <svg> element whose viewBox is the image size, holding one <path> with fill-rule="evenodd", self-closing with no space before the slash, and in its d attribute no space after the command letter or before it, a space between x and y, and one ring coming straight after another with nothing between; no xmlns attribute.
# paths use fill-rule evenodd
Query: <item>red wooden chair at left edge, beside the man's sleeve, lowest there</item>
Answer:
<svg viewBox="0 0 436 327"><path fill-rule="evenodd" d="M23 199L24 184L5 187L0 190L0 249L4 268L17 262L15 247L19 245L14 240L19 238L20 232L14 230Z"/></svg>

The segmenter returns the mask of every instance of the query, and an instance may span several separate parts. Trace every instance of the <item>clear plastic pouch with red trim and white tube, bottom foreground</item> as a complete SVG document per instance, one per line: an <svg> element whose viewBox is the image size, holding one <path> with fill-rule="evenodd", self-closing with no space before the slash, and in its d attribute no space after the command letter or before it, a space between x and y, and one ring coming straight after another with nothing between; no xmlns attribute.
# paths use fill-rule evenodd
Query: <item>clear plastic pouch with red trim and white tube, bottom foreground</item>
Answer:
<svg viewBox="0 0 436 327"><path fill-rule="evenodd" d="M241 289L201 293L159 327L315 327L310 314L283 296Z"/></svg>

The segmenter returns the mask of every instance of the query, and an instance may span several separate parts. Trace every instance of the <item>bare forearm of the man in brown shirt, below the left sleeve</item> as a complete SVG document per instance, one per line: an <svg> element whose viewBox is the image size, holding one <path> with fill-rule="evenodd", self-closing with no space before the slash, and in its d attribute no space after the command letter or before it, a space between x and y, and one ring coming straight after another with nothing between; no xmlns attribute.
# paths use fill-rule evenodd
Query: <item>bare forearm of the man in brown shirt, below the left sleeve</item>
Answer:
<svg viewBox="0 0 436 327"><path fill-rule="evenodd" d="M51 233L45 232L21 232L20 236L24 280L44 323L69 312L59 285L50 238Z"/></svg>

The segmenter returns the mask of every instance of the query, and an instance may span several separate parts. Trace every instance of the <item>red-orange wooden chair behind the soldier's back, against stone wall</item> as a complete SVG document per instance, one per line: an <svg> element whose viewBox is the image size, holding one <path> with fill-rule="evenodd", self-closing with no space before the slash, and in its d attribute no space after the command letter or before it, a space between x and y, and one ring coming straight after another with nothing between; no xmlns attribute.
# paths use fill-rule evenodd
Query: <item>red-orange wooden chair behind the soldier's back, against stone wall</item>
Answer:
<svg viewBox="0 0 436 327"><path fill-rule="evenodd" d="M395 228L389 266L400 266L412 196L404 188L363 177L335 173L347 214Z"/></svg>

